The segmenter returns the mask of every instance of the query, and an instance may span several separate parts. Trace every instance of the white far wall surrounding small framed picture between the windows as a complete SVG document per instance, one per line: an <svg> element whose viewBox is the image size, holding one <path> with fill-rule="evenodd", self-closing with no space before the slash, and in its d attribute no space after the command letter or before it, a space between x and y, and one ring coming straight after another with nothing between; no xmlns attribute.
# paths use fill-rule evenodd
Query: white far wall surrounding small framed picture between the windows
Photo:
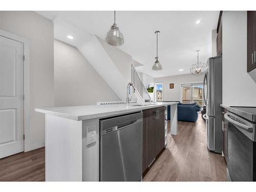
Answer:
<svg viewBox="0 0 256 192"><path fill-rule="evenodd" d="M191 74L154 78L154 82L163 82L163 101L180 101L181 84L188 82L203 82L203 75ZM174 83L174 89L169 89L169 83Z"/></svg>

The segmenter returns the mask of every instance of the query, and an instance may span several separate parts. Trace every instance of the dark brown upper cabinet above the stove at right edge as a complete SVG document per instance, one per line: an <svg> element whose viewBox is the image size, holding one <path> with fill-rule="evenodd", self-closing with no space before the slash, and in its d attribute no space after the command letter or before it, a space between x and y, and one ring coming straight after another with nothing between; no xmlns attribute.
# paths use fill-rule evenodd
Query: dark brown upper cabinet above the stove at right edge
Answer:
<svg viewBox="0 0 256 192"><path fill-rule="evenodd" d="M247 11L247 72L256 68L256 11Z"/></svg>

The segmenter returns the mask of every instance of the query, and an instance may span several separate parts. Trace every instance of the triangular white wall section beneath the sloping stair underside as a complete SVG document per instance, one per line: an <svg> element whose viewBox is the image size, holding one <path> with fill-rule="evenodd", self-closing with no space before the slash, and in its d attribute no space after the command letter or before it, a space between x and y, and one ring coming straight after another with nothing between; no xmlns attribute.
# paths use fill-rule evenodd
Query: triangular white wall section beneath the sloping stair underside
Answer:
<svg viewBox="0 0 256 192"><path fill-rule="evenodd" d="M73 46L54 40L55 106L94 105L119 97Z"/></svg>

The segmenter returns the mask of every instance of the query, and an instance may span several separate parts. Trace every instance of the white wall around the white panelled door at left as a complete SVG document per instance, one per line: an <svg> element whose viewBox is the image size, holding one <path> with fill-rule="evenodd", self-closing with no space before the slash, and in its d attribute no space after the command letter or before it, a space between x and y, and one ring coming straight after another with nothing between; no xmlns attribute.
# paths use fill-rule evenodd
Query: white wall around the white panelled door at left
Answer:
<svg viewBox="0 0 256 192"><path fill-rule="evenodd" d="M54 106L53 23L33 11L0 11L0 18L0 29L31 41L30 134L25 138L28 151L45 145L45 115L34 109Z"/></svg>

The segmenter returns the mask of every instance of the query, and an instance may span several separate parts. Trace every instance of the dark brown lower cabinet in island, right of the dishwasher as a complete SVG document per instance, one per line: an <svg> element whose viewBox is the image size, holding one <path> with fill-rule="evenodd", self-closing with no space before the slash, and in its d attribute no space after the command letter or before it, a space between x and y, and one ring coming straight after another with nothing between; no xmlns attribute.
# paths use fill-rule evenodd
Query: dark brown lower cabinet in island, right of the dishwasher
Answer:
<svg viewBox="0 0 256 192"><path fill-rule="evenodd" d="M164 122L164 106L143 110L143 172L164 148Z"/></svg>

